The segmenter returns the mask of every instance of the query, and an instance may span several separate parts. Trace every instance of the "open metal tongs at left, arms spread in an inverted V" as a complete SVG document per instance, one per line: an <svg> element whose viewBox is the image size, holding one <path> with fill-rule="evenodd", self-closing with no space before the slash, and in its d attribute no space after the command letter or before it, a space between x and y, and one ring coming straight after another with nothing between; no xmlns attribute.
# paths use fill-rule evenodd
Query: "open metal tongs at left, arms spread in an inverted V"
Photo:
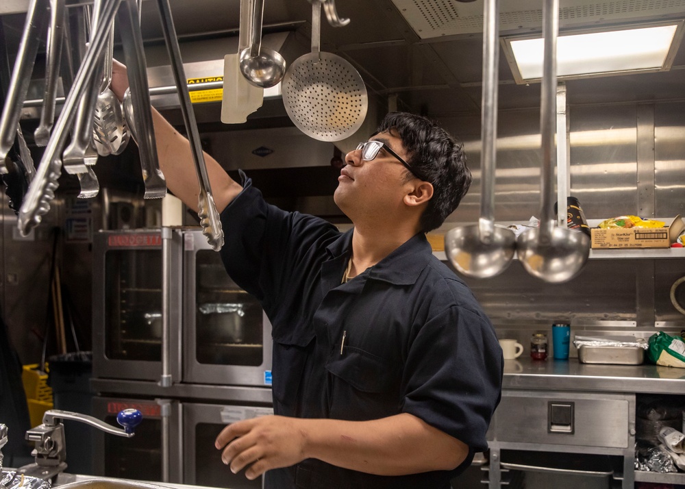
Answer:
<svg viewBox="0 0 685 489"><path fill-rule="evenodd" d="M34 0L36 3L45 0ZM121 5L121 8L120 8ZM114 17L119 10L119 25L122 33L122 45L125 60L130 70L131 88L134 91L134 107L138 109L139 127L152 128L152 115L149 110L149 87L145 75L145 53L142 50L142 36L138 27L138 8L135 0L103 0L99 16L99 23L94 30L90 46L86 50L84 60L74 79L69 95L64 101L64 107L58 121L53 127L53 133L43 153L40 166L36 171L36 177L31 182L25 201L19 210L18 228L24 236L33 227L40 223L42 216L50 210L50 202L55 198L55 189L58 187L58 178L62 171L60 155L68 135L67 127L73 125L76 108L79 101L86 94L86 90L92 82L97 60L101 59L105 43ZM40 15L39 15L40 16ZM35 58L35 55L34 55ZM14 73L13 73L14 75ZM25 90L23 93L25 97ZM22 98L23 100L23 98ZM21 110L21 103L16 105ZM5 105L14 106L12 103ZM143 179L145 181L145 198L161 198L166 195L166 181L159 169L154 134L151 130L140 131L142 135L138 141L140 148L140 160L143 165ZM3 155L4 156L4 155ZM146 171L147 170L147 171Z"/></svg>

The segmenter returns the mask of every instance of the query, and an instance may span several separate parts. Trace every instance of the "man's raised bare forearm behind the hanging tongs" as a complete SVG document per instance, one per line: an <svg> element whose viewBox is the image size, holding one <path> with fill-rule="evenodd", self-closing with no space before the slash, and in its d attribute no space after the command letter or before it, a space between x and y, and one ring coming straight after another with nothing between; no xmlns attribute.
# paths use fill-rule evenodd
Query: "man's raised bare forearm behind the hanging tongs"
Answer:
<svg viewBox="0 0 685 489"><path fill-rule="evenodd" d="M157 154L160 168L166 178L166 186L173 195L197 211L200 188L195 164L192 161L190 142L154 108L152 108L152 118ZM207 153L203 154L214 203L216 209L221 212L240 193L242 187L228 176L214 158Z"/></svg>

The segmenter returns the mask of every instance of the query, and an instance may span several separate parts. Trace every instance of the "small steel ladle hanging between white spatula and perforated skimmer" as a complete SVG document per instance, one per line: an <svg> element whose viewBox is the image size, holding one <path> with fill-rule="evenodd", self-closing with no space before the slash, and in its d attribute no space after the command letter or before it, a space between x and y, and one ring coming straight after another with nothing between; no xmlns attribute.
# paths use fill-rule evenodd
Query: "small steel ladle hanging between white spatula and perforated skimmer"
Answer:
<svg viewBox="0 0 685 489"><path fill-rule="evenodd" d="M286 60L278 51L262 46L264 0L256 0L252 17L252 43L240 53L240 72L254 86L271 88L283 79Z"/></svg>

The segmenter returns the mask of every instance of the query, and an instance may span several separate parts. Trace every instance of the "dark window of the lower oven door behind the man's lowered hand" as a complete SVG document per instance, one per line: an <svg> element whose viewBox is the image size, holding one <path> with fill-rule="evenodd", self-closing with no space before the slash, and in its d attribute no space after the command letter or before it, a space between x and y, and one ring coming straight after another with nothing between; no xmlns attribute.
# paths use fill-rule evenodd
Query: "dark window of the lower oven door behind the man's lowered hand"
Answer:
<svg viewBox="0 0 685 489"><path fill-rule="evenodd" d="M262 477L251 481L244 471L237 474L221 462L221 451L214 448L214 440L224 425L198 423L195 426L195 484L231 489L259 489Z"/></svg>

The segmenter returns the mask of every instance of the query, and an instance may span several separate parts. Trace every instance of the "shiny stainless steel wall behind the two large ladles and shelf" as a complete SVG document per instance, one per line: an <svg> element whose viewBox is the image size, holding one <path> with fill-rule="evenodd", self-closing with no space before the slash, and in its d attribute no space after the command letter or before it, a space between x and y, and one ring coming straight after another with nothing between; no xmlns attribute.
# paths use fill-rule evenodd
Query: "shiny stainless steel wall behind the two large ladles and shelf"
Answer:
<svg viewBox="0 0 685 489"><path fill-rule="evenodd" d="M571 195L580 200L586 218L685 214L684 102L571 106L568 114ZM457 221L476 221L480 199L480 122L446 122L463 138L475 178L469 195L440 231ZM528 221L540 215L538 128L537 110L499 116L497 221ZM590 260L572 281L546 284L514 262L498 277L466 281L503 330L568 321L647 333L655 325L675 331L685 327L685 317L670 299L671 285L682 275L685 259ZM685 302L682 289L677 290L680 303Z"/></svg>

